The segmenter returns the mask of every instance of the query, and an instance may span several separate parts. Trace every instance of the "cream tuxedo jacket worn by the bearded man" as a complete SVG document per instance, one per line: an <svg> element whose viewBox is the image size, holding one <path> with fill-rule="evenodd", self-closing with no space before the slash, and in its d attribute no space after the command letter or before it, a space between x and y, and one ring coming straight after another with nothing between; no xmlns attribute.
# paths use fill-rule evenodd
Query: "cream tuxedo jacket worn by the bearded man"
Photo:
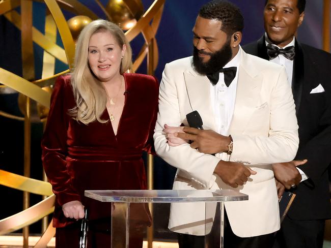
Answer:
<svg viewBox="0 0 331 248"><path fill-rule="evenodd" d="M204 129L216 130L210 103L210 82L191 66L192 57L178 59L164 68L155 126L156 153L178 168L173 189L232 189L249 195L248 201L226 202L233 232L240 237L279 230L277 189L272 163L294 159L298 126L292 91L285 69L246 54L242 49L234 113L229 129L231 156L198 152L189 144L171 147L162 133L164 124L187 125L186 114L197 110ZM245 163L257 172L243 186L231 188L213 174L219 160ZM179 233L205 234L204 203L174 203L169 228Z"/></svg>

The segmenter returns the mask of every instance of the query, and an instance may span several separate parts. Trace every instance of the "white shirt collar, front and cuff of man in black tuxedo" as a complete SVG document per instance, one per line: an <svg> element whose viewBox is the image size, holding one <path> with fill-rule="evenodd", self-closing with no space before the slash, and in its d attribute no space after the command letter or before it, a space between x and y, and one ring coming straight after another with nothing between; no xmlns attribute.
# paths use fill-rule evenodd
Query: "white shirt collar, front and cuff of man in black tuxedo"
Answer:
<svg viewBox="0 0 331 248"><path fill-rule="evenodd" d="M272 46L277 46L277 45L274 45L271 43L271 41L269 40L267 34L265 33L264 34L264 37L265 37L265 45L267 46L268 44L272 45ZM289 47L289 46L295 46L295 38L293 37L293 40L287 44L286 46L284 47L279 47L277 46L278 48L286 48L286 47ZM278 65L281 65L281 66L284 66L285 67L285 70L286 70L286 74L287 74L287 79L290 83L290 85L292 85L292 77L293 77L293 61L294 60L290 60L290 59L287 59L283 54L279 54L277 57L273 58L270 60L271 62L275 63L275 64L278 64ZM307 180L308 179L308 176L305 174L305 172L303 172L302 170L300 170L299 168L296 168L300 174L301 174L301 182L304 181L304 180Z"/></svg>

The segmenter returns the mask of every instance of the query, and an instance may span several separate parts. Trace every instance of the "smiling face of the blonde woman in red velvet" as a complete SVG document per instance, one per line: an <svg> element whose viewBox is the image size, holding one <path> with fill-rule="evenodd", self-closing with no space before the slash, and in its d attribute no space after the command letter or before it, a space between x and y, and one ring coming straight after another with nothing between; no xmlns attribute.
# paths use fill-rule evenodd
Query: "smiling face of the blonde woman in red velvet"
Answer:
<svg viewBox="0 0 331 248"><path fill-rule="evenodd" d="M89 64L94 75L101 82L111 81L120 74L121 60L126 46L123 48L108 31L93 34L89 41Z"/></svg>

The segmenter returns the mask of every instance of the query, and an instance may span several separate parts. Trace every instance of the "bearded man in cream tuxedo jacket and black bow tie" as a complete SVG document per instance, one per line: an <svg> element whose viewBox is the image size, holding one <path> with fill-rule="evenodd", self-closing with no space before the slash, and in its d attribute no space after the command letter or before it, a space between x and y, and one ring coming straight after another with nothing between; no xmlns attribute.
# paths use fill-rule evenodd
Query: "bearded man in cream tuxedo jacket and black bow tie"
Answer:
<svg viewBox="0 0 331 248"><path fill-rule="evenodd" d="M194 56L163 71L155 149L178 168L174 190L249 195L248 201L225 203L236 239L225 235L226 248L271 247L280 228L271 164L293 160L298 126L285 69L246 54L239 45L242 28L242 15L231 3L213 1L201 8L193 28ZM186 114L194 110L204 130L187 128ZM182 124L186 127L175 128ZM199 239L204 219L204 203L175 203L169 228ZM185 236L180 247L200 247L189 240Z"/></svg>

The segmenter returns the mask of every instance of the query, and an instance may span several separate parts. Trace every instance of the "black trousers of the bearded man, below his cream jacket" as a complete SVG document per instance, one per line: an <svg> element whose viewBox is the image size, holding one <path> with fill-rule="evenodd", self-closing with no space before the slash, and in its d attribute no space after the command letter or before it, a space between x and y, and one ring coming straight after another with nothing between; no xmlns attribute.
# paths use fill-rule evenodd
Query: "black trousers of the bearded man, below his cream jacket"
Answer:
<svg viewBox="0 0 331 248"><path fill-rule="evenodd" d="M219 208L216 208L216 217ZM218 233L217 233L218 232ZM214 225L210 234L207 236L208 248L219 248L219 229ZM227 212L224 211L224 248L271 248L274 242L274 233L241 238L236 236L230 227ZM189 234L178 234L179 248L204 248L205 236L195 236Z"/></svg>

